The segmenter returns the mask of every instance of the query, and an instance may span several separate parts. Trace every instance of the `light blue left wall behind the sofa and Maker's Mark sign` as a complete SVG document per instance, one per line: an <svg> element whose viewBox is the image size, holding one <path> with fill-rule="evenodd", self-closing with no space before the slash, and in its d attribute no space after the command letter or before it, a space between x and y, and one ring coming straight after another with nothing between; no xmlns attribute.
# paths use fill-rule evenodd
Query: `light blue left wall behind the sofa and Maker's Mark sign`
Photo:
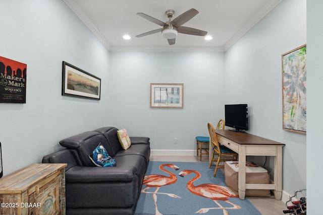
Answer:
<svg viewBox="0 0 323 215"><path fill-rule="evenodd" d="M26 104L0 103L4 174L109 124L109 52L63 1L0 1L0 56L27 64ZM61 96L62 61L102 79L100 101Z"/></svg>

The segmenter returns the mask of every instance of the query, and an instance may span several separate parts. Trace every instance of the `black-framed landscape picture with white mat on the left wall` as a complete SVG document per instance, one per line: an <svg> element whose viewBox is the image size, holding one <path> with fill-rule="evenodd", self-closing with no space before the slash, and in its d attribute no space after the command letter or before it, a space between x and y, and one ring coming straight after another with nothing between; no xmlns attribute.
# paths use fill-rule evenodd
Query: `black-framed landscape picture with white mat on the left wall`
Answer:
<svg viewBox="0 0 323 215"><path fill-rule="evenodd" d="M62 95L100 100L101 79L63 61Z"/></svg>

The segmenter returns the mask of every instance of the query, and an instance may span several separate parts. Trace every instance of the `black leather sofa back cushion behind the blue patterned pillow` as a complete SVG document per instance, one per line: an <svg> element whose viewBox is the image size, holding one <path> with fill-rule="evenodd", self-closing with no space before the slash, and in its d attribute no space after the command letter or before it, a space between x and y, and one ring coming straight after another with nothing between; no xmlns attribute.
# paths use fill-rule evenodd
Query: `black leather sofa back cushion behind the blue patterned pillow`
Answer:
<svg viewBox="0 0 323 215"><path fill-rule="evenodd" d="M82 162L83 166L95 166L89 159L88 155L91 154L93 152L93 149L95 149L99 144L101 144L106 149L109 155L112 153L112 150L107 144L105 137L95 131L87 131L75 136L65 138L60 141L60 144L61 146L68 149L77 150L79 159Z"/></svg>

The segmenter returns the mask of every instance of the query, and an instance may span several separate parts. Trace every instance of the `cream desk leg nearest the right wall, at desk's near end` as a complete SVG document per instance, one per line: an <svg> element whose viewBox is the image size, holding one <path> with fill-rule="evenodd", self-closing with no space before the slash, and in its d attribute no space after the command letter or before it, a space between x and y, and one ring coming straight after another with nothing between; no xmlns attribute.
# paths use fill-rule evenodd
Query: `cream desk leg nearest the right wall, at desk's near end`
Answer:
<svg viewBox="0 0 323 215"><path fill-rule="evenodd" d="M274 158L274 190L275 199L282 199L283 147L276 147L277 156Z"/></svg>

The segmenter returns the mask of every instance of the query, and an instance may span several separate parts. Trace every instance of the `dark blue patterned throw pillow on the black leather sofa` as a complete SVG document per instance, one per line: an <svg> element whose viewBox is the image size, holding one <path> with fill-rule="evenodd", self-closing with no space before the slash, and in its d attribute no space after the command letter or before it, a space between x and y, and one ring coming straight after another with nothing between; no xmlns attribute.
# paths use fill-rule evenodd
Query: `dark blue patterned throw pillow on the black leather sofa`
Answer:
<svg viewBox="0 0 323 215"><path fill-rule="evenodd" d="M98 167L114 167L116 166L116 159L113 159L107 154L105 148L99 145L93 150L91 154L89 154L89 158L93 162L95 166Z"/></svg>

